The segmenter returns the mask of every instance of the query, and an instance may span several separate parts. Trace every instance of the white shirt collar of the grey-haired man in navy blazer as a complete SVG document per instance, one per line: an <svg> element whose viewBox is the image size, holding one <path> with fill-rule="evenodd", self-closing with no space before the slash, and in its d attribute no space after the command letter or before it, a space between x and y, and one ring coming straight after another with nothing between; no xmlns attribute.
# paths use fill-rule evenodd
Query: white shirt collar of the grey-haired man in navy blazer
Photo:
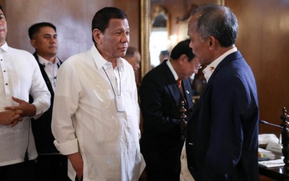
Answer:
<svg viewBox="0 0 289 181"><path fill-rule="evenodd" d="M204 74L204 77L207 80L207 82L209 81L212 73L217 68L219 63L221 63L221 61L223 61L226 56L228 56L229 54L232 54L233 52L237 52L237 47L234 47L233 49L229 49L227 52L225 52L224 54L219 56L216 60L212 61L212 63L210 63L210 65L208 65L206 68L204 68L203 74Z"/></svg>

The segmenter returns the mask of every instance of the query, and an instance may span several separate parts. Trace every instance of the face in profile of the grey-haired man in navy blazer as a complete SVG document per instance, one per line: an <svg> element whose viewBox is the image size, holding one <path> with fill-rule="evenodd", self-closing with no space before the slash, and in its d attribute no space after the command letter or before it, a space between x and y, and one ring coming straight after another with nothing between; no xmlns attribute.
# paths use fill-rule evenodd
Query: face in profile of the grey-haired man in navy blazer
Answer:
<svg viewBox="0 0 289 181"><path fill-rule="evenodd" d="M193 53L199 59L201 65L208 65L210 62L209 42L208 39L201 41L201 36L196 31L196 15L189 20L188 36L191 40L189 47L193 49Z"/></svg>

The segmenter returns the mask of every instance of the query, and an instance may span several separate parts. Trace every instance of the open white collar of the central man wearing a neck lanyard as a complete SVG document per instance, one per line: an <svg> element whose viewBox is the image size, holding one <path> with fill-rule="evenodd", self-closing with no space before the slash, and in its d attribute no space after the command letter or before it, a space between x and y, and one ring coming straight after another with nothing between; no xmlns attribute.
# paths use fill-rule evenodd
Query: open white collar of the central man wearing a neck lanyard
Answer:
<svg viewBox="0 0 289 181"><path fill-rule="evenodd" d="M105 70L107 70L107 68L109 66L112 66L112 63L105 60L102 55L100 54L100 52L98 51L98 49L95 47L95 45L93 45L93 47L91 47L91 54L93 56L93 60L95 62L96 68L98 70L104 68ZM116 66L119 68L120 72L123 72L123 58L117 58L116 59Z"/></svg>

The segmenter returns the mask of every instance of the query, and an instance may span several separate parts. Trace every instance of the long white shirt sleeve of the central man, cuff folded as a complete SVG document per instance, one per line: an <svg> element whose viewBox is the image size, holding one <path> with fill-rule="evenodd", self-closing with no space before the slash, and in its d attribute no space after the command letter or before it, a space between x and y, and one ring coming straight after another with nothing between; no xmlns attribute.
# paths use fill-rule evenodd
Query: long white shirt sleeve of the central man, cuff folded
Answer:
<svg viewBox="0 0 289 181"><path fill-rule="evenodd" d="M73 81L68 81L68 77ZM55 137L54 145L63 155L78 152L72 116L79 106L80 93L79 77L74 68L68 63L61 65L57 73L54 94L52 134Z"/></svg>

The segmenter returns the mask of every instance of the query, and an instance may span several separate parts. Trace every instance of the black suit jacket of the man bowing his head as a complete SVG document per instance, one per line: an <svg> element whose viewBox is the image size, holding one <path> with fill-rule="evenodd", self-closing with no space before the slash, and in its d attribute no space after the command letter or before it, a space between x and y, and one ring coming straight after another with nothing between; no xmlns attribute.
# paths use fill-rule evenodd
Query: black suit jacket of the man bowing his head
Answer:
<svg viewBox="0 0 289 181"><path fill-rule="evenodd" d="M187 100L186 109L192 109L192 87L189 79L182 81ZM151 166L159 173L179 173L180 152L180 101L182 95L173 73L166 61L145 77L140 87L143 134L141 152L147 168ZM189 113L189 111L187 111Z"/></svg>

